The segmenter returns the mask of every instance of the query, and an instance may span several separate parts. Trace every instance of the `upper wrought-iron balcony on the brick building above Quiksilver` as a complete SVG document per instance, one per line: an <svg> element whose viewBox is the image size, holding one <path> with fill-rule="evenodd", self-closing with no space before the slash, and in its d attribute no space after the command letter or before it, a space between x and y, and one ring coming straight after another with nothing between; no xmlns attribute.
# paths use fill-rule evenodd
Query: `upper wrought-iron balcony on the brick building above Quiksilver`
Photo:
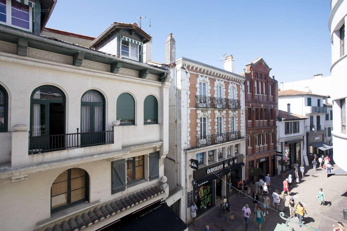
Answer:
<svg viewBox="0 0 347 231"><path fill-rule="evenodd" d="M197 108L240 109L240 100L217 98L210 96L196 96Z"/></svg>

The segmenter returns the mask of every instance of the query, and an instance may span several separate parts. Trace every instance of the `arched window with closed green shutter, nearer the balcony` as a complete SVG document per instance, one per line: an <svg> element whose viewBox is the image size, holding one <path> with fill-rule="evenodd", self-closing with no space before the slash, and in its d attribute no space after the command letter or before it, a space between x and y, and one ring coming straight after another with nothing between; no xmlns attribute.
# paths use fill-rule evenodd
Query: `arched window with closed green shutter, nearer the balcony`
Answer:
<svg viewBox="0 0 347 231"><path fill-rule="evenodd" d="M129 93L122 93L117 98L117 120L120 125L135 124L135 101Z"/></svg>

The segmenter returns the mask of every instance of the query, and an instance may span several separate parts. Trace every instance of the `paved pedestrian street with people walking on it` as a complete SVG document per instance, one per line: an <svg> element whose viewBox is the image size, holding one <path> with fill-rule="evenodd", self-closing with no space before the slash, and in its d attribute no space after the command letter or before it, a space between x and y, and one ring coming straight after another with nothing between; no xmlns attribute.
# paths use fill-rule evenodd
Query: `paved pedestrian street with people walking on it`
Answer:
<svg viewBox="0 0 347 231"><path fill-rule="evenodd" d="M333 170L338 169L335 165ZM310 225L311 227L318 228L321 231L330 231L332 230L332 224L336 224L337 221L346 223L343 219L342 210L347 208L347 176L331 176L327 178L326 170L319 169L313 171L312 168L305 167L305 176L300 178L300 183L293 187L290 190L290 196L294 197L296 203L302 202L306 208L307 215L303 219L303 223ZM293 175L293 171L288 171L288 174ZM271 194L275 189L278 189L280 192L283 190L283 179L280 176L275 176L271 178L271 190L269 190L269 197L271 199ZM326 201L324 206L320 206L317 199L317 192L319 188L323 188L325 193ZM253 193L253 192L252 192ZM288 200L290 197L286 196ZM216 202L217 205L221 202ZM235 219L231 220L229 223L226 222L226 215L219 217L219 206L216 206L208 213L197 218L195 227L193 224L189 224L188 228L191 231L203 231L206 225L210 226L212 231L224 230L235 230L242 231L245 230L245 221L241 216L241 209L247 203L249 204L251 210L253 211L253 204L251 198L239 197L236 194L230 198L232 212L235 215ZM263 202L260 199L260 202ZM289 211L285 215L289 216ZM266 222L263 222L262 230L274 230L277 223L285 223L285 220L281 219L278 212L269 210L269 214L265 216ZM298 221L297 217L295 220ZM344 222L345 221L345 222ZM311 230L308 228L300 228L299 225L294 223L289 223L290 226L293 226L294 230ZM254 215L250 217L248 230L259 230L257 228L257 223L254 221Z"/></svg>

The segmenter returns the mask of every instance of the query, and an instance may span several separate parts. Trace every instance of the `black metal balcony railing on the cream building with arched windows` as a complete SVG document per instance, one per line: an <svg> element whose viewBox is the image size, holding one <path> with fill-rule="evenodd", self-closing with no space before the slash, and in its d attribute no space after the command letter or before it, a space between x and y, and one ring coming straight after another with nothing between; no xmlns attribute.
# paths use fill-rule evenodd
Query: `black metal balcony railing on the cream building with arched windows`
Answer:
<svg viewBox="0 0 347 231"><path fill-rule="evenodd" d="M29 136L29 154L113 143L111 131Z"/></svg>

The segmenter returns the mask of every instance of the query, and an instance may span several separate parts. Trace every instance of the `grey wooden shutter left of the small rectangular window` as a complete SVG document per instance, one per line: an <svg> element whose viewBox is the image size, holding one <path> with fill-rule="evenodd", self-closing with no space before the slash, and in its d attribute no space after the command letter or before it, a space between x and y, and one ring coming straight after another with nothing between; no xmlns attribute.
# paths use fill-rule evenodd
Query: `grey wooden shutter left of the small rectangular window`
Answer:
<svg viewBox="0 0 347 231"><path fill-rule="evenodd" d="M111 162L112 192L115 194L125 190L125 159Z"/></svg>

